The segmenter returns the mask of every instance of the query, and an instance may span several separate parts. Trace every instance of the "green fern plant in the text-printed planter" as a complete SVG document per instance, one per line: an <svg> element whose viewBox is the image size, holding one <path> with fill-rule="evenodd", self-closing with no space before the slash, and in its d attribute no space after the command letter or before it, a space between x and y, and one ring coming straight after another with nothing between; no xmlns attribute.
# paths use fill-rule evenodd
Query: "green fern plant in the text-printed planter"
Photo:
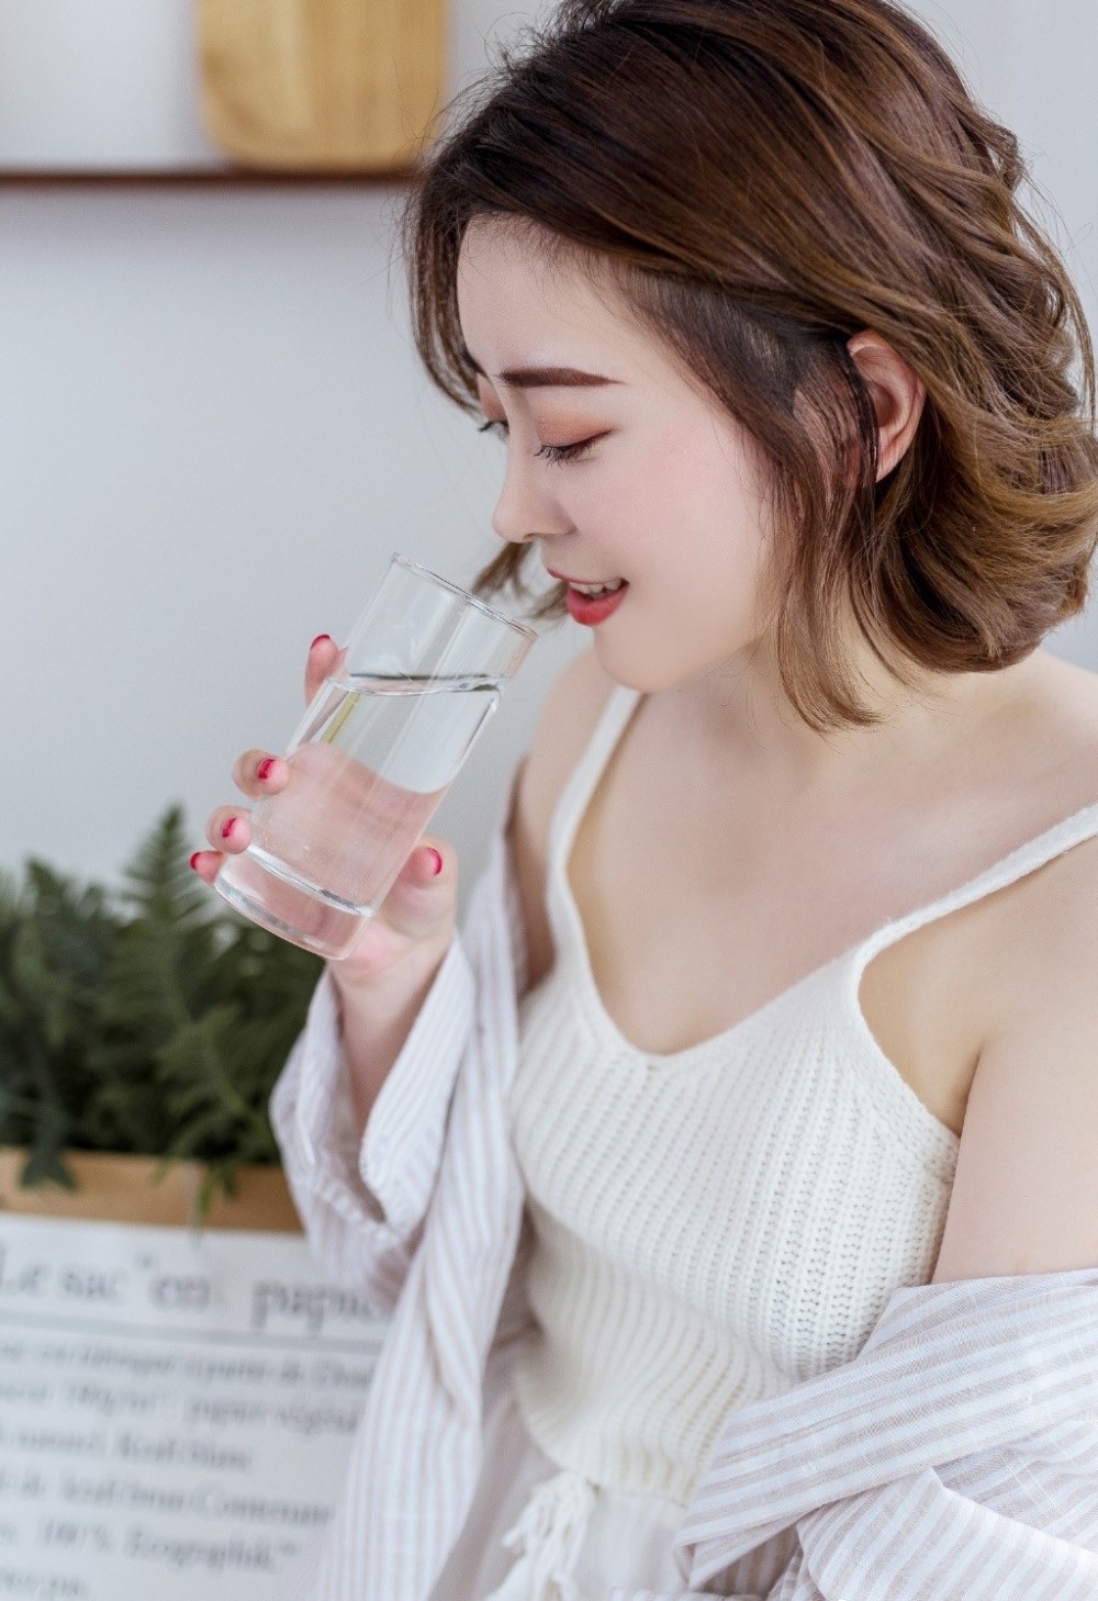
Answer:
<svg viewBox="0 0 1098 1601"><path fill-rule="evenodd" d="M323 962L238 917L187 865L171 805L115 892L38 860L0 874L0 1143L21 1185L75 1188L64 1150L194 1158L197 1209L277 1162L267 1101Z"/></svg>

